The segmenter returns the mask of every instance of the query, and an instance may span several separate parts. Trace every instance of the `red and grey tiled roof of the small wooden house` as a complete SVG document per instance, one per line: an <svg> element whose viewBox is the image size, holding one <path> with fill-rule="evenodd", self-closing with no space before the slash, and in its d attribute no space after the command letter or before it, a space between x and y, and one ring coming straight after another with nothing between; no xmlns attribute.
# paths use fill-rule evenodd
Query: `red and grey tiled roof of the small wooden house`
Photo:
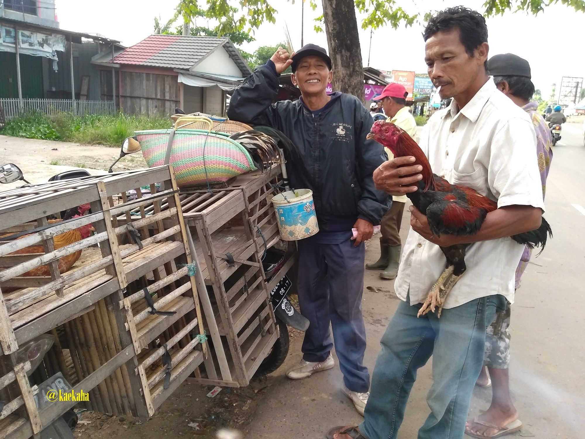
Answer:
<svg viewBox="0 0 585 439"><path fill-rule="evenodd" d="M225 38L186 35L150 35L115 57L118 64L190 69Z"/></svg>

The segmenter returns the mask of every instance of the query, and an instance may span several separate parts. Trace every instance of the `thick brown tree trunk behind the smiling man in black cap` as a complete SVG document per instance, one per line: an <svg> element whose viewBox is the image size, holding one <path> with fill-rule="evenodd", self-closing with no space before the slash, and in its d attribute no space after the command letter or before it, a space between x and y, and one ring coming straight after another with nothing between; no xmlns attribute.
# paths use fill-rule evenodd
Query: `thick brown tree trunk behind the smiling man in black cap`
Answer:
<svg viewBox="0 0 585 439"><path fill-rule="evenodd" d="M333 90L365 103L362 50L354 0L322 0L325 33L333 64Z"/></svg>

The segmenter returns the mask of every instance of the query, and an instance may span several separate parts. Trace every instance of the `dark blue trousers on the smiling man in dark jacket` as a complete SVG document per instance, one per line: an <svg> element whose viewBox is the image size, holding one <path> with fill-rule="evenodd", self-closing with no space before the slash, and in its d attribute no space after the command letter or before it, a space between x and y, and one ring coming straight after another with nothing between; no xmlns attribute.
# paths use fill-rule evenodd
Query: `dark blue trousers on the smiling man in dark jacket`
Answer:
<svg viewBox="0 0 585 439"><path fill-rule="evenodd" d="M362 317L366 246L298 242L298 301L301 314L311 322L302 343L303 359L325 361L333 348L343 381L353 392L370 389L370 374L363 365L366 329Z"/></svg>

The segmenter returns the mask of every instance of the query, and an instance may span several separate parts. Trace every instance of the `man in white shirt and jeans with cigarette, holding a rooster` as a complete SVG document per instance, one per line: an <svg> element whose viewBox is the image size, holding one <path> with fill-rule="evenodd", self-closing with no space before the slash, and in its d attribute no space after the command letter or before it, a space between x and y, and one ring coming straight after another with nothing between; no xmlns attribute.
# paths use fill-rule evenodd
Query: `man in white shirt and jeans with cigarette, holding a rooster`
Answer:
<svg viewBox="0 0 585 439"><path fill-rule="evenodd" d="M486 328L506 299L514 301L514 271L524 246L510 237L545 224L534 128L528 115L488 77L485 19L463 6L448 8L429 20L424 40L429 77L442 99L453 100L431 116L421 148L412 146L400 128L385 126L391 135L405 139L411 153L393 149L395 159L374 172L376 187L413 196L414 203L415 195L420 199L425 194L421 183L435 187L432 170L443 187L467 188L465 196L484 198L494 208L487 215L484 210L483 218L474 218L479 209L459 217L453 209L459 211L460 204L452 201L462 198L455 191L446 193L438 221L479 227L474 234L439 236L431 232L431 217L411 207L411 230L395 281L402 302L381 340L364 421L359 427L333 428L328 433L332 439L395 439L417 371L431 355L433 385L427 396L431 413L418 439L463 437L483 365ZM373 135L385 122L376 124ZM378 131L375 138L390 149L396 146L384 132ZM463 264L462 276L449 276L445 251L458 247L467 249L467 267ZM454 277L458 282L453 284ZM450 292L445 298L441 287L447 289L447 280ZM441 287L435 291L437 285ZM433 299L429 304L437 292L440 303Z"/></svg>

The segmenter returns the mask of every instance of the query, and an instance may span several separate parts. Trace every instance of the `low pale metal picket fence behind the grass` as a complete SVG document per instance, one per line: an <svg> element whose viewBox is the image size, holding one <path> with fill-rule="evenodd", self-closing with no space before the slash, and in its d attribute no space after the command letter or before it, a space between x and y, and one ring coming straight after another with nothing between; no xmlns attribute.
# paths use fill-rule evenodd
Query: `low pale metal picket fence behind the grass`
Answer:
<svg viewBox="0 0 585 439"><path fill-rule="evenodd" d="M23 99L22 108L18 99L0 98L0 107L4 110L6 119L13 118L21 112L40 111L44 114L73 113L71 99ZM116 107L113 101L78 101L75 100L75 109L78 115L84 114L113 114Z"/></svg>

